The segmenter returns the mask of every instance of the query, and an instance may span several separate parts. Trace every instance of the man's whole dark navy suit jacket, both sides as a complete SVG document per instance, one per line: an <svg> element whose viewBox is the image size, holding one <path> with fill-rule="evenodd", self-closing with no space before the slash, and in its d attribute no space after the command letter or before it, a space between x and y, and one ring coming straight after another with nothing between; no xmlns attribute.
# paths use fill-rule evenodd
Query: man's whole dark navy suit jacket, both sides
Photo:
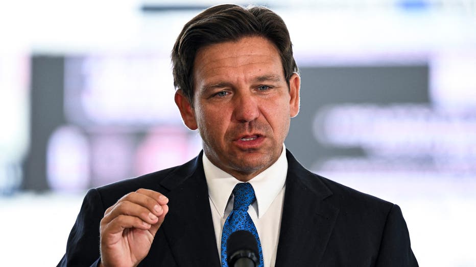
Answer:
<svg viewBox="0 0 476 267"><path fill-rule="evenodd" d="M184 165L88 191L58 266L99 262L104 211L139 188L169 198L169 213L139 266L220 266L202 153ZM400 208L303 168L288 174L276 267L418 266Z"/></svg>

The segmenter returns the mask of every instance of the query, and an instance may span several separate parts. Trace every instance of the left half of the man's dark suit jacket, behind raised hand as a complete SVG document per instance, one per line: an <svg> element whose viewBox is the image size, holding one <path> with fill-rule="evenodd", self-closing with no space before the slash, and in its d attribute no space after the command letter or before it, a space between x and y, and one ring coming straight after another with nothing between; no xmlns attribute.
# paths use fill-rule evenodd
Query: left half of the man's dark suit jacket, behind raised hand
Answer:
<svg viewBox="0 0 476 267"><path fill-rule="evenodd" d="M58 266L96 266L105 210L140 188L167 196L169 213L139 266L219 266L201 156L181 166L89 190Z"/></svg>

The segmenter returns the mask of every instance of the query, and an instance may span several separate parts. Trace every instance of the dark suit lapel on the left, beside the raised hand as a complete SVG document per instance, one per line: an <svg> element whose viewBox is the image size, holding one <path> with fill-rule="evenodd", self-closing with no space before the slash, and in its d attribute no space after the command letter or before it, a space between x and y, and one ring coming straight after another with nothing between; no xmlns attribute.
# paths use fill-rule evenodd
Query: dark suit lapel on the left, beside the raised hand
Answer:
<svg viewBox="0 0 476 267"><path fill-rule="evenodd" d="M202 153L161 182L170 190L162 227L179 266L220 266Z"/></svg>

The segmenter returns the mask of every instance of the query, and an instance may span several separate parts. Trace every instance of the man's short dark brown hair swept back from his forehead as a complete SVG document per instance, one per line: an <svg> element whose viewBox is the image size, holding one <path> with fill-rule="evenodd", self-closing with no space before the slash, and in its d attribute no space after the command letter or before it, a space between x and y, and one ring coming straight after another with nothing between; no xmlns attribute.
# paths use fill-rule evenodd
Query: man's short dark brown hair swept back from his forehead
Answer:
<svg viewBox="0 0 476 267"><path fill-rule="evenodd" d="M289 86L289 79L298 68L289 31L281 17L265 7L219 5L204 10L183 26L172 50L175 88L182 89L193 105L193 67L197 51L206 45L248 36L267 38L277 47Z"/></svg>

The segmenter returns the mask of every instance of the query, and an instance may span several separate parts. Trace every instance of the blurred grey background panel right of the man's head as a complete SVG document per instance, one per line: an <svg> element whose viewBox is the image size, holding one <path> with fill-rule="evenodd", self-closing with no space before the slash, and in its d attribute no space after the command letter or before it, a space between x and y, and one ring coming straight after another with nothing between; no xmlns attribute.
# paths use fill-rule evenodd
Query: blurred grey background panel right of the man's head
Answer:
<svg viewBox="0 0 476 267"><path fill-rule="evenodd" d="M325 105L344 103L429 103L429 67L305 67L301 72L301 109L291 119L287 148L307 168L323 158L363 156L359 148L337 149L318 143L313 121Z"/></svg>

